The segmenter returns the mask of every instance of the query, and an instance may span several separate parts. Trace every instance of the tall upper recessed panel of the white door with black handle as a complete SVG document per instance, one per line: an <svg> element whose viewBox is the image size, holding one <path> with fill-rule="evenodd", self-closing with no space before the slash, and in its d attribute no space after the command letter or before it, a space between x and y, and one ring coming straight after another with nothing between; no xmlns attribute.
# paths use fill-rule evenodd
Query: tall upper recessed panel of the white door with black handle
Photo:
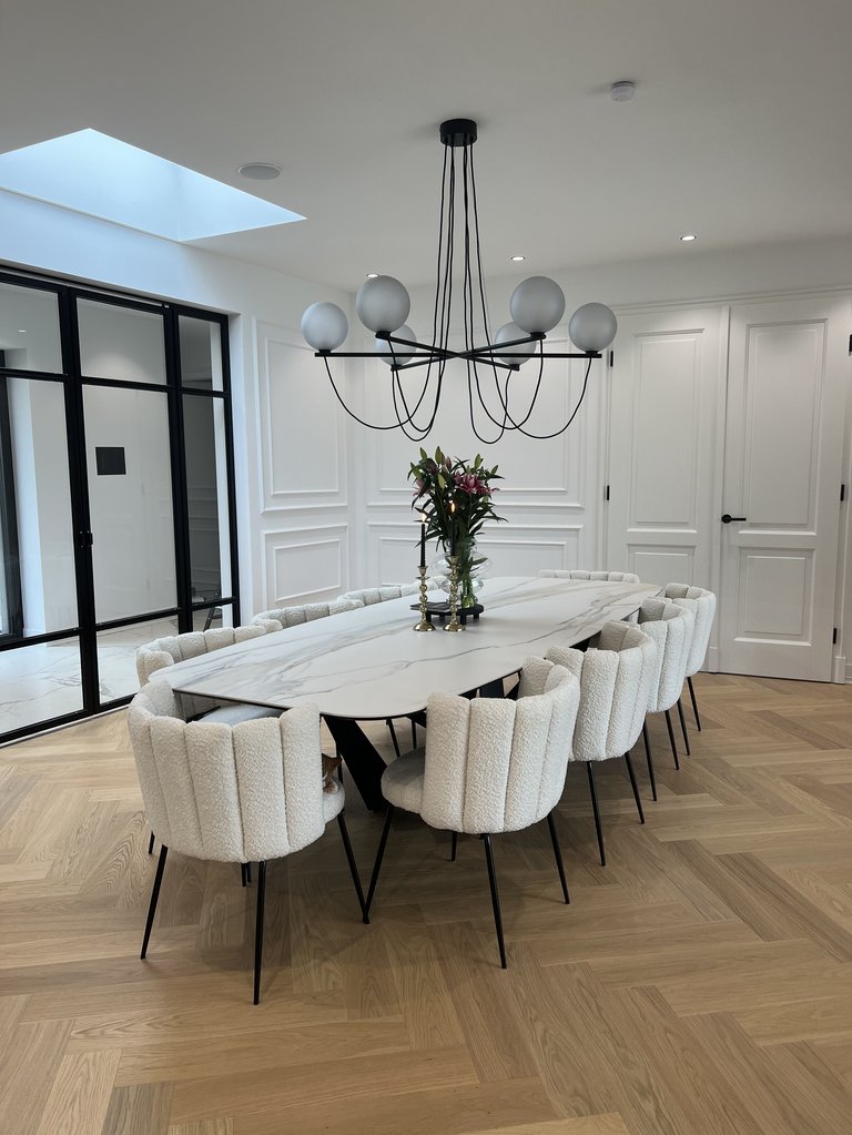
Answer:
<svg viewBox="0 0 852 1135"><path fill-rule="evenodd" d="M813 527L825 323L748 338L743 502L751 524Z"/></svg>

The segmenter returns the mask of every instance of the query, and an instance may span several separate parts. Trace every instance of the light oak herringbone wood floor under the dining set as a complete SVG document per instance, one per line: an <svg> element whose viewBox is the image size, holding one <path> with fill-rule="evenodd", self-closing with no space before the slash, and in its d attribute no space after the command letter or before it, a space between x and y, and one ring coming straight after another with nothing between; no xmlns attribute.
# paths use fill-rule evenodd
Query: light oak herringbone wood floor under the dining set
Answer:
<svg viewBox="0 0 852 1135"><path fill-rule="evenodd" d="M256 1009L236 867L170 857L138 960L154 859L124 714L0 750L0 1130L852 1132L852 692L697 684L680 773L652 725L644 827L601 768L606 868L570 770L571 907L545 825L497 839L507 972L478 840L450 864L403 818L366 927L331 825L270 869ZM347 815L366 877L381 818L354 793Z"/></svg>

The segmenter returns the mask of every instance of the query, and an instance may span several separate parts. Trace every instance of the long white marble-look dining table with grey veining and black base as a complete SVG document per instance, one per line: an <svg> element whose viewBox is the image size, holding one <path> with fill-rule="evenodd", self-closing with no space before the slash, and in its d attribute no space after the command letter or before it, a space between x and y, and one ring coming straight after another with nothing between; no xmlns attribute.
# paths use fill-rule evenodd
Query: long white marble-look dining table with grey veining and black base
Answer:
<svg viewBox="0 0 852 1135"><path fill-rule="evenodd" d="M412 597L343 612L250 639L157 672L178 692L289 709L310 701L331 730L369 807L381 807L385 762L358 721L422 713L432 692L501 692L530 655L585 642L626 619L653 583L504 577L480 592L466 630L415 632Z"/></svg>

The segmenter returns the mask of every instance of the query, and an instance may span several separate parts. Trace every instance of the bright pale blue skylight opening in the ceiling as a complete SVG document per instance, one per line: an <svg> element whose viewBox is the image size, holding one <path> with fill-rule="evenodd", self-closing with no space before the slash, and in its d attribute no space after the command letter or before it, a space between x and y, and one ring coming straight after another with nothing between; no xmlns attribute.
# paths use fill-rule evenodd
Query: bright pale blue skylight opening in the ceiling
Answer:
<svg viewBox="0 0 852 1135"><path fill-rule="evenodd" d="M170 241L305 219L93 129L0 154L0 188Z"/></svg>

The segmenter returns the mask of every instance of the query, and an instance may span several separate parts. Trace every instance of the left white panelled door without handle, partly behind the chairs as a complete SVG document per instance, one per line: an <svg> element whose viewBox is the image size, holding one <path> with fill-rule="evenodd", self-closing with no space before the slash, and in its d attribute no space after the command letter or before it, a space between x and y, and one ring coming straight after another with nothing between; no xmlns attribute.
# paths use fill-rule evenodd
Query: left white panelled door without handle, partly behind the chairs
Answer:
<svg viewBox="0 0 852 1135"><path fill-rule="evenodd" d="M724 309L619 317L606 566L711 587Z"/></svg>

